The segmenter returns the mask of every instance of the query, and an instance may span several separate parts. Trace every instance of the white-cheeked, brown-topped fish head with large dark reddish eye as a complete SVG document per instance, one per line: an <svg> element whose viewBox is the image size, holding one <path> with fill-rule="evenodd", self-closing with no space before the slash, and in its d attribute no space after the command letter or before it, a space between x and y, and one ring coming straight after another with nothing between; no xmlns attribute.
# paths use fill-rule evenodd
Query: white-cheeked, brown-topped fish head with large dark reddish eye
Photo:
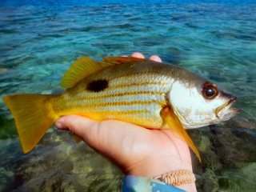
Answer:
<svg viewBox="0 0 256 192"><path fill-rule="evenodd" d="M226 121L239 113L231 107L236 97L218 89L204 78L176 80L166 101L186 128L198 128Z"/></svg>

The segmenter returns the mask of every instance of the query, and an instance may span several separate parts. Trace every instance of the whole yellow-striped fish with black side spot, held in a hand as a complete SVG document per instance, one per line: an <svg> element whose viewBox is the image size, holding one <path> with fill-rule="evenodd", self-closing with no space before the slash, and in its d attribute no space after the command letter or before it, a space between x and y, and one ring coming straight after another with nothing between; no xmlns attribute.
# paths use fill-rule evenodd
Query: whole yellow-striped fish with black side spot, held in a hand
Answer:
<svg viewBox="0 0 256 192"><path fill-rule="evenodd" d="M80 58L62 78L58 95L13 94L3 98L14 115L22 150L37 145L54 122L68 114L97 121L116 119L174 130L201 161L185 129L226 121L238 114L236 98L192 72L143 58Z"/></svg>

